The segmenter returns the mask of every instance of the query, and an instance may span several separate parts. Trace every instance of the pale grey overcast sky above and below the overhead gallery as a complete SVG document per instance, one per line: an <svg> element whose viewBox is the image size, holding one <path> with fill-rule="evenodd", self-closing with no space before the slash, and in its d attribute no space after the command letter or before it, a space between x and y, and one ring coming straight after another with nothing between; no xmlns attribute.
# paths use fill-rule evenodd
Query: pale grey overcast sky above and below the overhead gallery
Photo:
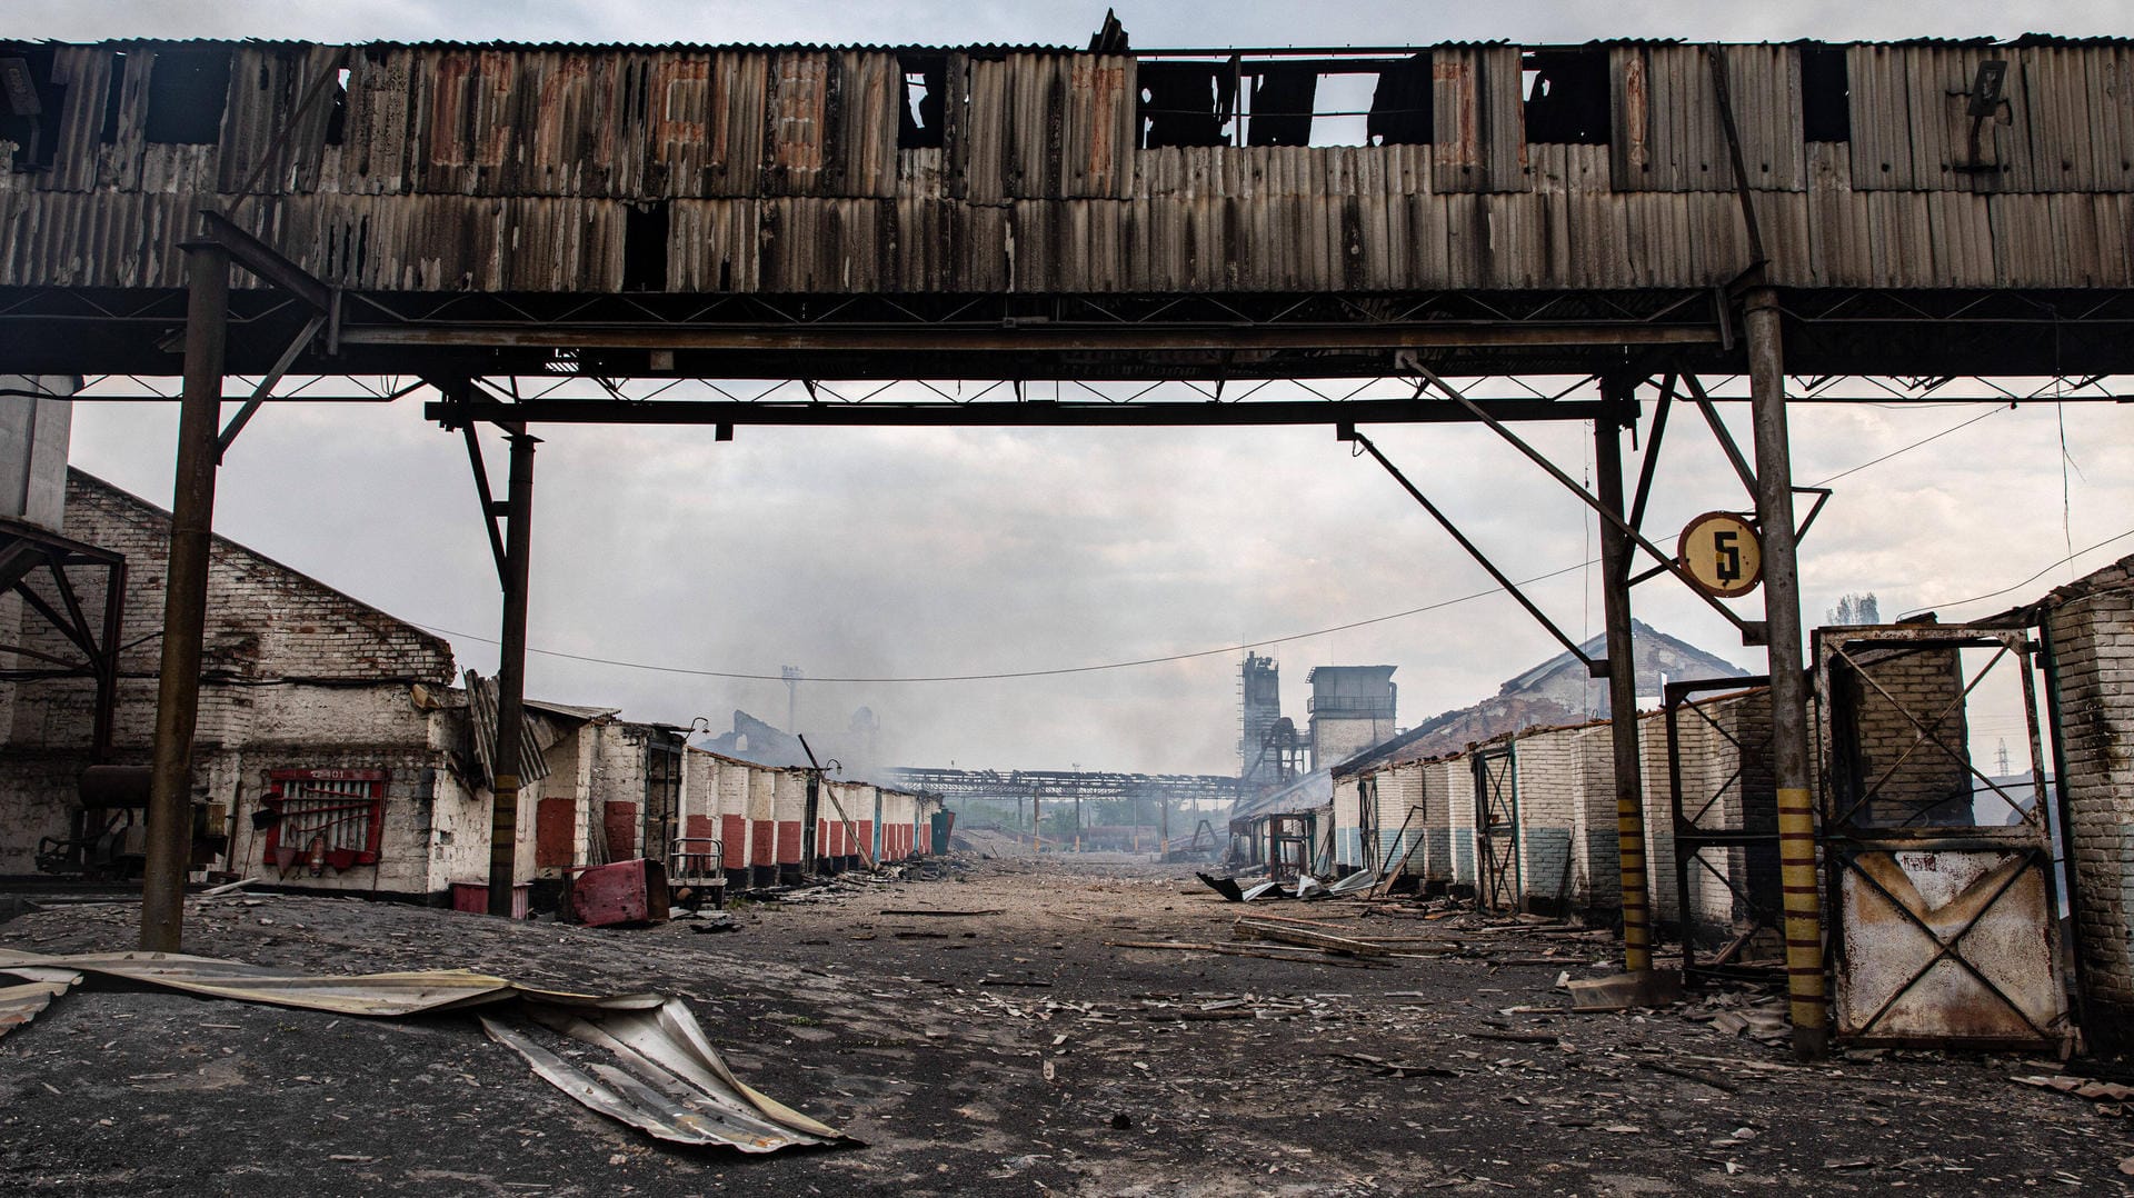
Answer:
<svg viewBox="0 0 2134 1198"><path fill-rule="evenodd" d="M2134 6L1918 4L1122 4L1135 45L2134 34ZM15 0L4 36L267 36L467 41L1086 43L1103 4ZM1801 406L1795 463L1816 483L1982 408ZM1737 421L1746 444L1746 423ZM1530 427L1586 474L1583 425ZM175 410L75 414L77 466L158 504ZM1090 666L1253 643L1304 715L1315 664L1400 666L1402 724L1462 707L1556 651L1509 598L1485 596L1347 632L1291 639L1460 596L1487 577L1332 429L828 431L555 427L538 459L531 643L726 673L973 675ZM1571 572L1532 596L1571 634L1598 632L1583 508L1487 431L1374 429L1379 444L1513 577ZM2066 438L2068 455L2061 455ZM495 438L491 438L495 442ZM1694 421L1669 436L1650 523L1671 540L1709 508L1746 508ZM501 470L501 444L493 444ZM1803 545L1805 611L1874 592L1884 615L1995 592L2134 530L2134 412L2000 410L1835 483ZM457 436L391 408L284 406L254 421L220 478L218 532L403 619L446 630L489 673L497 592ZM2047 570L1997 611L2134 553L2134 538ZM1761 668L1669 581L1639 617ZM1754 615L1756 600L1743 604ZM783 722L777 681L726 681L536 656L538 696L630 718ZM802 688L800 726L873 707L909 764L1236 771L1238 653L988 683Z"/></svg>

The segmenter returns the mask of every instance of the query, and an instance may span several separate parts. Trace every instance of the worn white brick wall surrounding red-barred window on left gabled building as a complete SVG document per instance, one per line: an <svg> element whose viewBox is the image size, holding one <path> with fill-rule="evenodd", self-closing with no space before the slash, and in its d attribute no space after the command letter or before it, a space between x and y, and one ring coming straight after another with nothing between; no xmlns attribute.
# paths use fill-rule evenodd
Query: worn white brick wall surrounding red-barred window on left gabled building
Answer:
<svg viewBox="0 0 2134 1198"><path fill-rule="evenodd" d="M156 713L156 677L169 562L169 513L90 474L68 470L66 534L115 549L128 562L113 760L145 764ZM36 585L36 583L32 583ZM55 598L55 596L51 596ZM87 619L102 619L102 596L81 594ZM17 619L21 643L66 653L41 619ZM412 628L324 583L307 579L224 538L213 540L207 636L196 732L196 782L205 797L228 805L233 869L248 863L245 833L265 769L393 769L388 841L393 856L361 886L437 890L437 841L472 805L457 782L431 786L425 799L401 775L450 777L455 711L423 709L414 683L446 688L452 651L442 639ZM0 792L0 873L30 873L38 837L70 833L75 779L90 764L94 685L87 679L26 681L11 688L6 779ZM391 764L388 764L391 762ZM440 803L440 811L429 805ZM420 807L420 809L418 809ZM487 805L480 824L487 826ZM487 856L487 850L484 850ZM250 858L256 865L256 852ZM369 873L369 869L365 869ZM307 884L344 886L333 878ZM346 882L348 886L356 882Z"/></svg>

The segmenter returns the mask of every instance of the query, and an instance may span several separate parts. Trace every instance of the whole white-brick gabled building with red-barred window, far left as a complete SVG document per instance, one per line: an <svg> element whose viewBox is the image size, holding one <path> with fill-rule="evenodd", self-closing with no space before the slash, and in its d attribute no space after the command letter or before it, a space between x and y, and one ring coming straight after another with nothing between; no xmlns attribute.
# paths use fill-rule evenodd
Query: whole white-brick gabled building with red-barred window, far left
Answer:
<svg viewBox="0 0 2134 1198"><path fill-rule="evenodd" d="M145 764L171 517L68 470L64 530L126 557L109 760ZM102 617L100 596L81 602L92 621ZM47 621L21 606L6 619L23 649L64 653ZM96 690L90 679L38 679L0 683L0 873L30 873L43 837L79 831L77 779L92 764ZM216 865L312 888L403 895L484 876L489 803L469 784L463 707L442 639L216 538L194 747L203 831L226 837Z"/></svg>

